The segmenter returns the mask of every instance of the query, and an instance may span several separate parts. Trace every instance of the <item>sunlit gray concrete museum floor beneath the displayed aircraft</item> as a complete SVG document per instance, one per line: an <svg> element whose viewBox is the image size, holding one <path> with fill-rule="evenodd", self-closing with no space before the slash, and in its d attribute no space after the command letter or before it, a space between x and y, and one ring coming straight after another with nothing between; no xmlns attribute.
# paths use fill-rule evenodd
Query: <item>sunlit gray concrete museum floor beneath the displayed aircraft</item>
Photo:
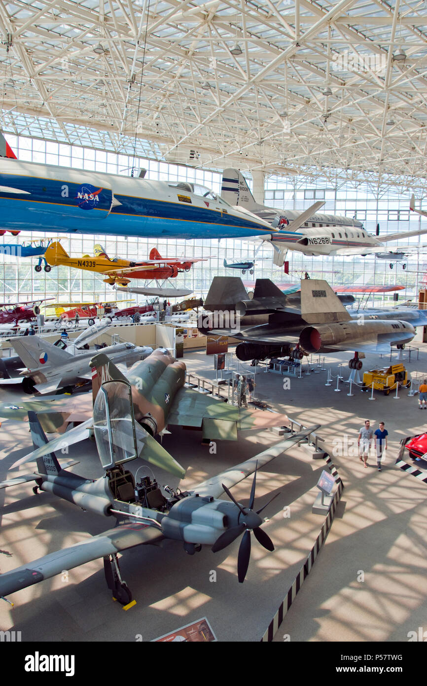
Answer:
<svg viewBox="0 0 427 686"><path fill-rule="evenodd" d="M407 364L419 373L427 370L427 346L420 348L419 361ZM326 357L332 374L337 374L338 362L349 357L347 353ZM213 357L195 351L185 359L191 372L215 376ZM388 358L379 361L370 356L364 368L387 363ZM343 366L344 376L348 371ZM291 377L286 390L280 375L256 375L256 392L269 398L273 409L288 412L304 425L322 425L319 434L345 485L326 543L274 640L289 635L291 641L407 641L408 631L423 626L426 616L427 485L394 462L400 438L424 430L427 411L424 418L423 411L417 410L417 397L408 397L407 390L400 391L399 400L378 393L376 401L370 402L369 394L360 390L347 397L343 383L341 392L334 392L336 384L326 387L325 383L324 371L302 379ZM4 395L15 402L19 397L12 392ZM352 456L351 440L357 438L365 418L370 418L374 429L384 419L390 434L380 473L374 458L364 469ZM12 421L2 424L0 437L3 480L16 473L9 471L10 466L27 452L31 441L27 425ZM188 466L184 487L191 488L277 440L271 431L245 432L237 443L219 443L217 455L210 456L197 434L173 429L165 436L164 447ZM83 455L75 447L69 457L75 456L81 464L73 471L88 477L101 474L93 446ZM253 539L245 584L236 579L239 541L215 556L204 549L193 557L186 556L180 544L166 541L163 548L134 549L121 557L123 576L137 600L130 611L111 601L102 563L96 560L72 570L68 581L58 576L15 593L10 598L14 608L1 602L0 628L21 630L23 641L58 637L63 641L134 641L136 635L149 641L206 616L221 641L257 641L324 521L310 511L323 468L323 461L313 461L303 449L293 449L260 472L257 505L267 502L270 493L281 492L271 509L265 510L269 521L263 527L276 550L267 553ZM161 482L167 481L163 477ZM250 479L242 482L233 489L234 495L244 501L250 485ZM284 519L283 508L289 504L291 517ZM0 506L2 572L111 525L51 494L34 496L31 485L0 491ZM212 570L217 572L215 583L209 580Z"/></svg>

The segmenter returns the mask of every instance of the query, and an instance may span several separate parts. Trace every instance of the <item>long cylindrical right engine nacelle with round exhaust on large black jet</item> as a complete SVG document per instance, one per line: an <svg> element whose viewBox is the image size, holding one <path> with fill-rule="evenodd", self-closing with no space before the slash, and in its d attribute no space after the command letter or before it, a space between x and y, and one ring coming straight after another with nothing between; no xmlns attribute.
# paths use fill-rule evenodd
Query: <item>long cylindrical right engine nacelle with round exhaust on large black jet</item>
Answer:
<svg viewBox="0 0 427 686"><path fill-rule="evenodd" d="M307 353L319 353L328 346L351 341L350 347L354 348L354 341L371 342L382 334L399 333L396 339L398 343L407 343L413 339L415 329L408 322L397 320L364 320L358 322L342 322L341 324L320 324L318 327L306 327L300 333L300 346ZM401 338L402 333L407 338ZM380 342L380 339L379 339ZM393 341L387 339L392 344Z"/></svg>

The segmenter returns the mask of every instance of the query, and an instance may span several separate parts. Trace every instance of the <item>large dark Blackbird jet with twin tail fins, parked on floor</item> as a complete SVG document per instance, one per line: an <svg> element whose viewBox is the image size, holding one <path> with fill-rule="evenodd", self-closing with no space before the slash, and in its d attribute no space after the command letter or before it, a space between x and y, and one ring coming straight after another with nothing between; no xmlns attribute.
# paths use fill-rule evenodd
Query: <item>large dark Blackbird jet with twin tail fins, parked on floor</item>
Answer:
<svg viewBox="0 0 427 686"><path fill-rule="evenodd" d="M343 303L352 296L337 296L321 279L302 279L300 294L283 294L269 279L257 279L249 298L241 279L215 276L204 307L212 315L199 319L199 331L230 335L241 340L236 356L241 360L308 353L353 350L351 369L360 370L358 353L389 352L403 347L417 326L427 325L427 311L365 309L348 311ZM239 327L229 326L224 312L235 311ZM223 322L225 321L225 325ZM200 325L202 324L202 326Z"/></svg>

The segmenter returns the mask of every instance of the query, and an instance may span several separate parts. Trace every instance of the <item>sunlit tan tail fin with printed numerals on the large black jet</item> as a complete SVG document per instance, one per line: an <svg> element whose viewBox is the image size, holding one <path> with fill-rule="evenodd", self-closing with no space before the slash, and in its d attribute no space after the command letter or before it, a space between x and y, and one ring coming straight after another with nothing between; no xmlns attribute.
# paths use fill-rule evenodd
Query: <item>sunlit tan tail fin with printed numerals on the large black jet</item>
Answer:
<svg viewBox="0 0 427 686"><path fill-rule="evenodd" d="M322 279L301 280L301 316L308 324L346 322L351 318L328 281Z"/></svg>

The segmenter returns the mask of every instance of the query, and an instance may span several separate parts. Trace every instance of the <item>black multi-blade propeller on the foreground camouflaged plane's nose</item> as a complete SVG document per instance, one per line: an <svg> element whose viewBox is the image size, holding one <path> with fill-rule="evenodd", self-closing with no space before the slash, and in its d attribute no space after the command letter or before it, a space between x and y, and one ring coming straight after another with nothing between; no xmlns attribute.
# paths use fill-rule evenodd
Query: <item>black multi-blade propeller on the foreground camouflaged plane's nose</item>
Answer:
<svg viewBox="0 0 427 686"><path fill-rule="evenodd" d="M230 493L230 490L227 488L227 486L225 486L225 484L222 484L225 493L227 493L228 497L234 503L234 505L237 508L239 508L241 514L239 514L239 524L236 526L232 526L230 529L227 529L223 534L221 534L221 536L219 536L219 539L217 539L217 541L215 541L215 543L212 545L212 552L216 553L219 550L222 550L223 548L230 545L230 543L235 541L235 539L244 532L243 539L239 547L239 555L237 557L237 577L239 578L239 582L241 584L245 580L247 567L249 566L249 558L251 556L251 531L254 532L254 536L258 543L263 545L263 547L265 547L267 550L271 552L274 550L274 546L270 537L267 536L265 531L263 531L260 528L260 525L263 523L263 520L260 517L260 513L263 512L267 505L269 505L271 501L274 500L274 498L276 498L276 496L279 494L276 493L276 495L274 495L268 501L268 503L265 504L264 507L254 512L252 508L254 507L255 500L255 486L256 469L254 473L254 481L252 482L249 506L247 508L243 508L241 504L236 501L232 493Z"/></svg>

